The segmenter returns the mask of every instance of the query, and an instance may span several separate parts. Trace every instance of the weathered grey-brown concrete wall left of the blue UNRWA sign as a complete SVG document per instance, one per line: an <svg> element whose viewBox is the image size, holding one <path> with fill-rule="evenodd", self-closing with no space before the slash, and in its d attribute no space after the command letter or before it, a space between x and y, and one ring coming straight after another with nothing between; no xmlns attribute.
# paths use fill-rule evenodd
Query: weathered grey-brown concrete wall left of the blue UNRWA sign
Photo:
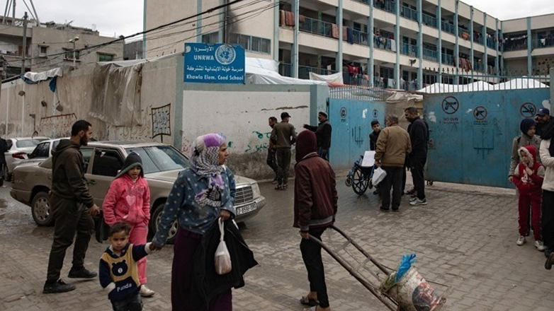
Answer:
<svg viewBox="0 0 554 311"><path fill-rule="evenodd" d="M31 136L34 131L52 138L69 136L71 125L77 119L86 119L93 124L93 137L98 140L119 141L161 141L171 143L174 137L153 136L153 129L161 126L152 124L152 108L169 105L169 117L175 110L175 55L142 66L142 88L140 89L140 124L130 127L115 127L91 117L93 98L93 71L95 65L64 71L57 77L57 91L52 93L50 81L26 84L11 81L2 84L0 93L0 135L3 137ZM182 58L182 57L181 57ZM24 90L25 95L18 93ZM132 94L135 96L135 94ZM45 104L41 103L45 102ZM61 107L61 111L56 107ZM7 124L7 126L6 126ZM171 123L171 126L174 124ZM173 134L174 131L171 131Z"/></svg>

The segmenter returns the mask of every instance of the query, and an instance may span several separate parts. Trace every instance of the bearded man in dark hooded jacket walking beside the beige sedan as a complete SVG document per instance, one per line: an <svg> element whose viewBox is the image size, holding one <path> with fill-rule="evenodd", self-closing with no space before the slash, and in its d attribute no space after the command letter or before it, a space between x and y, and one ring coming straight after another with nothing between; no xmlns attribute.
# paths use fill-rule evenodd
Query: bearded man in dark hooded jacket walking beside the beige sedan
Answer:
<svg viewBox="0 0 554 311"><path fill-rule="evenodd" d="M94 230L94 221L100 209L89 194L84 180L84 158L79 148L86 146L92 136L92 126L85 120L73 124L70 139L63 139L52 151L51 212L54 216L54 240L48 260L48 272L43 293L64 293L75 286L60 279L67 247L72 245L73 266L69 278L94 278L96 272L84 267L84 257Z"/></svg>

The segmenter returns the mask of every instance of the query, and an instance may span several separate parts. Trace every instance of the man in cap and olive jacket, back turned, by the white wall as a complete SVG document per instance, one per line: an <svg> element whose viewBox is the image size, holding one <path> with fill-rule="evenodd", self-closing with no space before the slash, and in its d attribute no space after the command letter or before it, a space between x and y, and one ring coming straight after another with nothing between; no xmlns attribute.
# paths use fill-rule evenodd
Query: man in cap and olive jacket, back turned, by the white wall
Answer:
<svg viewBox="0 0 554 311"><path fill-rule="evenodd" d="M286 190L288 187L288 171L290 170L290 146L296 141L296 131L293 124L288 123L288 112L281 113L281 122L271 130L271 142L276 148L277 157L277 187L276 190Z"/></svg>

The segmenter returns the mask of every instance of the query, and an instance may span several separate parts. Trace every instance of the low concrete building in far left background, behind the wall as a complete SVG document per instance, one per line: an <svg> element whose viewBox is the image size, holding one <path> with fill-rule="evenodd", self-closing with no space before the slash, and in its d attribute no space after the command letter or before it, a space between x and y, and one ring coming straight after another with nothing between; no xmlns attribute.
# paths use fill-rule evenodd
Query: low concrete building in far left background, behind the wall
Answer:
<svg viewBox="0 0 554 311"><path fill-rule="evenodd" d="M55 67L81 66L96 61L123 59L123 40L106 44L113 37L102 37L98 31L68 24L37 23L30 20L26 29L23 63L23 20L11 18L0 25L0 54L6 62L4 78L25 71L47 71Z"/></svg>

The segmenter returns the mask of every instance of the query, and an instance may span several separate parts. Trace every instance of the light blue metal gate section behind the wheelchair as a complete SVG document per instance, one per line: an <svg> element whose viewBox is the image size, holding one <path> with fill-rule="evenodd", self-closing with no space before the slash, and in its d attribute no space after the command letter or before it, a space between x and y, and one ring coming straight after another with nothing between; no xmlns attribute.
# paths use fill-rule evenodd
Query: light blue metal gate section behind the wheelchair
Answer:
<svg viewBox="0 0 554 311"><path fill-rule="evenodd" d="M333 168L351 168L369 150L374 119L383 126L384 102L329 98L329 120L333 127L329 160Z"/></svg>

